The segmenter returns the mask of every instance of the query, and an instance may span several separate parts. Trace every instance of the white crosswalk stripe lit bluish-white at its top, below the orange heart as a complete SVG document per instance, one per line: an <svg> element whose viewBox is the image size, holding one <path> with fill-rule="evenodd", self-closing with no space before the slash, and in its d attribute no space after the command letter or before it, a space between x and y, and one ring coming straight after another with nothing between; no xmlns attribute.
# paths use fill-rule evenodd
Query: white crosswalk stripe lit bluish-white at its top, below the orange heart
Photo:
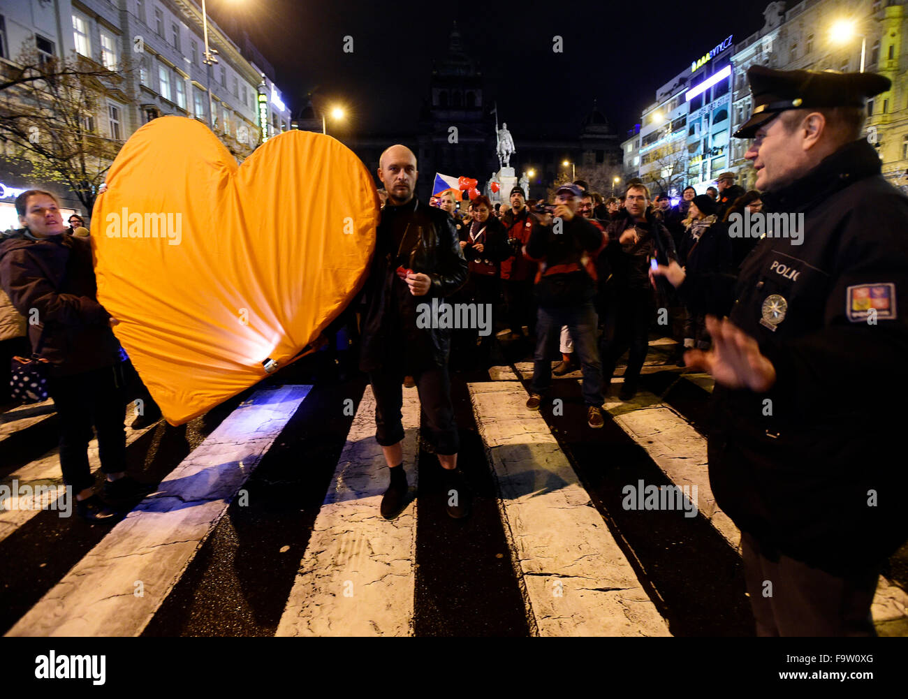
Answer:
<svg viewBox="0 0 908 699"><path fill-rule="evenodd" d="M141 634L310 389L243 402L7 635Z"/></svg>

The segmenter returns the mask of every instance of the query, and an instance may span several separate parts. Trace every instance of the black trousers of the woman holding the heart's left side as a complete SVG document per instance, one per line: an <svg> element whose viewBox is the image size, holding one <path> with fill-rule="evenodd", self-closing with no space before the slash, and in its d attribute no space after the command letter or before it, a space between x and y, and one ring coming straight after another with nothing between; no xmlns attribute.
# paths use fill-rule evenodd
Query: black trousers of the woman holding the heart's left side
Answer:
<svg viewBox="0 0 908 699"><path fill-rule="evenodd" d="M60 416L60 469L75 493L94 485L88 464L92 427L98 435L101 470L126 470L123 377L120 367L47 379L47 392Z"/></svg>

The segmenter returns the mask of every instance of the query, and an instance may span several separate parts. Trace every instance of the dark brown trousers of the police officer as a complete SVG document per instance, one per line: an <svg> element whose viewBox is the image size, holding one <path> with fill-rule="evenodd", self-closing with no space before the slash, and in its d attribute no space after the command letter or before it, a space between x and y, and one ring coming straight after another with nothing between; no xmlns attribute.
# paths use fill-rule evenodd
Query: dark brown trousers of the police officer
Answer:
<svg viewBox="0 0 908 699"><path fill-rule="evenodd" d="M870 605L879 569L838 577L765 552L741 532L747 593L760 636L875 636Z"/></svg>

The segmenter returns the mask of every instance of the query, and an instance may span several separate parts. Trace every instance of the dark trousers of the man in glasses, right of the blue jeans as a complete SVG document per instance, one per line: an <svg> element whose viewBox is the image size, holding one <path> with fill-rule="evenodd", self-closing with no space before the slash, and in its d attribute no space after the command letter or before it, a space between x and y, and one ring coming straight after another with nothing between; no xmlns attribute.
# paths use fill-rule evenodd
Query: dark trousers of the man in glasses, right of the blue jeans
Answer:
<svg viewBox="0 0 908 699"><path fill-rule="evenodd" d="M625 291L620 296L611 295L605 305L606 318L599 346L603 385L608 386L618 359L628 350L625 383L634 383L649 351L649 324L656 311L655 301L647 290Z"/></svg>

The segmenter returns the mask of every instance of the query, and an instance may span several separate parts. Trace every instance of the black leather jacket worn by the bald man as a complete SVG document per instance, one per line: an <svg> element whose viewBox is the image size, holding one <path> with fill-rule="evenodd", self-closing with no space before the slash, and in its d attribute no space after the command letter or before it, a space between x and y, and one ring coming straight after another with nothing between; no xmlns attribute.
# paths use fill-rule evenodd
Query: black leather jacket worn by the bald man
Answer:
<svg viewBox="0 0 908 699"><path fill-rule="evenodd" d="M405 217L402 223L406 232L395 251L392 226L396 217ZM467 281L468 265L454 220L447 212L414 198L403 206L385 206L376 234L378 241L365 289L360 369L387 369L396 363L393 360L398 357L394 355L400 352L406 357L407 373L447 366L451 331L418 328L416 319L419 304L450 296ZM396 273L399 266L428 274L429 293L413 296Z"/></svg>

